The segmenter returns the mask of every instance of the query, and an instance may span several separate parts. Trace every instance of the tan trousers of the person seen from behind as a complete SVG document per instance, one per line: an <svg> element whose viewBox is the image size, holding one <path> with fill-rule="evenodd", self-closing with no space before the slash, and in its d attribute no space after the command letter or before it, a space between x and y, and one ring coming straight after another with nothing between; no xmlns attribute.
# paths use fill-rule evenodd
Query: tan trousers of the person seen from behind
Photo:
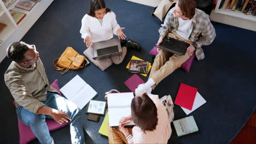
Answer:
<svg viewBox="0 0 256 144"><path fill-rule="evenodd" d="M128 128L129 133L132 134L132 128ZM111 143L128 143L124 134L119 128L111 128L108 125L108 142Z"/></svg>

